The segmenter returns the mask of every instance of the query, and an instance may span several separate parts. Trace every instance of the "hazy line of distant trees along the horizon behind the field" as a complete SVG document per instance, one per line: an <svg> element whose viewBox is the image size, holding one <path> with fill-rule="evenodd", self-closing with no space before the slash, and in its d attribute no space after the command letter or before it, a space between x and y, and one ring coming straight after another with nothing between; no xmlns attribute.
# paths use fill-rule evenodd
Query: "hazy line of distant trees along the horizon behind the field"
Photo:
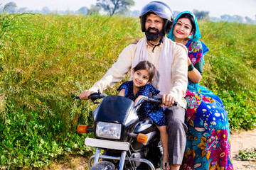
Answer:
<svg viewBox="0 0 256 170"><path fill-rule="evenodd" d="M0 6L0 11L6 11L9 13L56 13L60 15L92 15L92 14L103 14L103 15L119 15L124 17L139 17L139 10L130 11L129 8L131 6L134 6L133 0L97 0L96 4L92 4L90 8L86 6L82 6L77 11L55 11L50 10L47 6L43 7L41 10L32 10L28 8L18 8L16 6L16 3L9 2L8 4L5 4L4 7ZM176 16L180 11L174 11L174 16ZM250 18L248 16L242 17L239 15L230 16L228 14L220 16L220 18L217 17L210 17L209 11L198 11L193 10L193 13L195 14L196 18L198 20L208 20L213 22L231 22L231 23L250 23L250 24L256 24L256 15L254 18Z"/></svg>

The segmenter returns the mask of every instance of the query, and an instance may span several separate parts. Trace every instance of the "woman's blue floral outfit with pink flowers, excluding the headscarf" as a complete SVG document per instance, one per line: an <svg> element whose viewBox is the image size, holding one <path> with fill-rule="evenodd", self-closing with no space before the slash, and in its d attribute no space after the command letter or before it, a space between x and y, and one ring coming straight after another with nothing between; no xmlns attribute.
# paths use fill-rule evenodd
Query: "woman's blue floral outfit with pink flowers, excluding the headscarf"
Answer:
<svg viewBox="0 0 256 170"><path fill-rule="evenodd" d="M196 67L208 49L203 52L199 40L188 41L186 47L188 57ZM228 114L220 98L188 80L186 101L188 132L183 169L233 169Z"/></svg>

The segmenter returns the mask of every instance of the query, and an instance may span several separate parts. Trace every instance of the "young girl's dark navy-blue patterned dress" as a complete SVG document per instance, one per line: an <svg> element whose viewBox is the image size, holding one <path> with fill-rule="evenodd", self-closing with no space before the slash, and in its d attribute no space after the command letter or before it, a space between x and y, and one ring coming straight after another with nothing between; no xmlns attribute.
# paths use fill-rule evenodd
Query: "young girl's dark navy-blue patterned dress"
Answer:
<svg viewBox="0 0 256 170"><path fill-rule="evenodd" d="M130 98L132 101L135 101L135 99L141 95L143 96L149 96L149 93L151 95L157 95L160 93L158 89L156 89L152 84L146 84L145 86L142 86L136 95L133 94L133 81L126 81L124 82L117 91L121 91L121 89L125 89L124 97ZM166 116L163 111L163 108L159 105L152 105L150 103L144 103L142 105L142 109L139 109L138 114L146 115L146 117L151 118L151 120L154 120L154 123L158 126L166 125Z"/></svg>

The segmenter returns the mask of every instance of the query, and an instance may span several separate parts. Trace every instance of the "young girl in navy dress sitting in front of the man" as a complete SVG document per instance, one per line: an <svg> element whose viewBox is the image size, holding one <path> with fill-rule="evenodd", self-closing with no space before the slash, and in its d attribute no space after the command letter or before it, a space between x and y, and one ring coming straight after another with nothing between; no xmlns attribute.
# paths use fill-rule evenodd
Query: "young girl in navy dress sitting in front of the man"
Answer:
<svg viewBox="0 0 256 170"><path fill-rule="evenodd" d="M159 90L152 86L150 83L154 77L155 67L148 61L142 61L132 69L132 81L124 82L117 91L119 96L125 96L134 101L134 105L137 105L140 98L159 94ZM161 142L163 146L163 156L161 158L161 169L170 169L168 162L168 134L166 132L166 117L161 106L153 106L146 103L139 109L139 112L156 123L156 127L160 131ZM138 114L141 114L138 113Z"/></svg>

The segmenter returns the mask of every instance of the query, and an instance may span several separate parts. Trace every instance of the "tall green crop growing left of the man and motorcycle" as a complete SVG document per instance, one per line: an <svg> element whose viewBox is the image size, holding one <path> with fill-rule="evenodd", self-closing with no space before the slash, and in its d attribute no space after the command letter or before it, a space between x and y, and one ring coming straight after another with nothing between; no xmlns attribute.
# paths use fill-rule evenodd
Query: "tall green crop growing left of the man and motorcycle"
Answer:
<svg viewBox="0 0 256 170"><path fill-rule="evenodd" d="M99 25L105 16L23 17L14 26L41 27L10 31L1 48L1 169L39 168L92 151L76 126L92 125L95 106L73 97L102 76L139 26L122 18L132 26L123 30L117 17Z"/></svg>

